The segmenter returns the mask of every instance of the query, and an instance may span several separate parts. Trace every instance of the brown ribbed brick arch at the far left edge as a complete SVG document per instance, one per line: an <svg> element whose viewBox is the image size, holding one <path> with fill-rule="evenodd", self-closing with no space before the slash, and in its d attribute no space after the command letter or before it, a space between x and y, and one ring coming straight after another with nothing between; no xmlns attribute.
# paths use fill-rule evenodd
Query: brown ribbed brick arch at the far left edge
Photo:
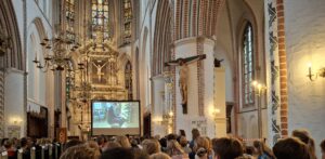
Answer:
<svg viewBox="0 0 325 159"><path fill-rule="evenodd" d="M2 65L0 67L13 67L20 70L25 69L24 54L22 52L22 43L17 26L16 16L11 0L2 0L0 3L0 28L4 36L10 37L6 53L1 58Z"/></svg>

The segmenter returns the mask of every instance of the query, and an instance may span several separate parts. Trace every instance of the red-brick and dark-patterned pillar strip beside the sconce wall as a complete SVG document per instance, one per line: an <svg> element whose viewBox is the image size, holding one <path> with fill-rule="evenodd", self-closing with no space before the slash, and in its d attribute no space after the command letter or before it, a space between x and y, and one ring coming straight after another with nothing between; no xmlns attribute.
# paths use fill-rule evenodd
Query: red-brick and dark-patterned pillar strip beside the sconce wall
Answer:
<svg viewBox="0 0 325 159"><path fill-rule="evenodd" d="M287 136L287 62L285 51L283 0L265 2L265 50L268 77L268 114L271 117L269 142Z"/></svg>

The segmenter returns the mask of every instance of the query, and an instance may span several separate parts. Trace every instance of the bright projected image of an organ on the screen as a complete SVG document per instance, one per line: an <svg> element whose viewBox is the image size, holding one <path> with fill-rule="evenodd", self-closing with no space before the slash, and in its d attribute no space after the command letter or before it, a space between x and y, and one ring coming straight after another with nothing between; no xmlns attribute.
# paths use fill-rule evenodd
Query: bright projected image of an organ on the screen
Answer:
<svg viewBox="0 0 325 159"><path fill-rule="evenodd" d="M93 128L139 128L138 103L95 102Z"/></svg>

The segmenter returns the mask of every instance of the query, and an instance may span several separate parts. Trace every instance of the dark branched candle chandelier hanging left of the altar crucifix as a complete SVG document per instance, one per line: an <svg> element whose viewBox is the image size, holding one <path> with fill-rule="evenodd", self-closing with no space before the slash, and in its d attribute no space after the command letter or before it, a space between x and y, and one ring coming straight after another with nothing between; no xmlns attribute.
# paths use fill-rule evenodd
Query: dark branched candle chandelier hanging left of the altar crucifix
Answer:
<svg viewBox="0 0 325 159"><path fill-rule="evenodd" d="M37 55L32 61L37 68L42 71L50 70L68 70L73 71L73 59L70 53L77 51L81 44L75 35L69 35L65 31L60 31L57 36L52 39L44 38L40 45L43 50L43 59L38 59ZM82 63L78 63L79 68L83 68ZM79 69L78 68L78 69Z"/></svg>

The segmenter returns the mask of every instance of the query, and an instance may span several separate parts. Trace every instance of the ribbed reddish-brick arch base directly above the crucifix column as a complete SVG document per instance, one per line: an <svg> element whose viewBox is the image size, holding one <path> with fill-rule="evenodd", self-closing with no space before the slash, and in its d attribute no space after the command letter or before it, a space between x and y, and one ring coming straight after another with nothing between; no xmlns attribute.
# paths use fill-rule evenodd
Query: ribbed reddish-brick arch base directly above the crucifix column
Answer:
<svg viewBox="0 0 325 159"><path fill-rule="evenodd" d="M177 1L176 40L216 34L214 26L225 0Z"/></svg>

